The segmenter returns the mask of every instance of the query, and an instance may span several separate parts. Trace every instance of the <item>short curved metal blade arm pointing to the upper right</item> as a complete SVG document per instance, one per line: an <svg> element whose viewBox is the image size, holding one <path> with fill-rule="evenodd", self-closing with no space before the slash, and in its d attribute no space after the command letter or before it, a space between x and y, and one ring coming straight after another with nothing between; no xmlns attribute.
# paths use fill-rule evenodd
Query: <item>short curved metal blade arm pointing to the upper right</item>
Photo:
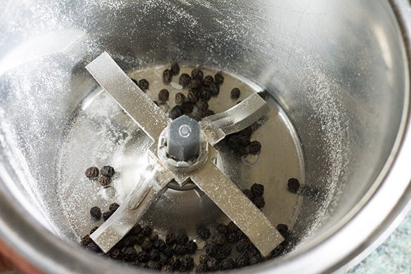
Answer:
<svg viewBox="0 0 411 274"><path fill-rule="evenodd" d="M225 112L203 118L199 124L206 132L208 142L215 145L228 134L240 132L240 130L256 123L269 111L266 101L254 93Z"/></svg>

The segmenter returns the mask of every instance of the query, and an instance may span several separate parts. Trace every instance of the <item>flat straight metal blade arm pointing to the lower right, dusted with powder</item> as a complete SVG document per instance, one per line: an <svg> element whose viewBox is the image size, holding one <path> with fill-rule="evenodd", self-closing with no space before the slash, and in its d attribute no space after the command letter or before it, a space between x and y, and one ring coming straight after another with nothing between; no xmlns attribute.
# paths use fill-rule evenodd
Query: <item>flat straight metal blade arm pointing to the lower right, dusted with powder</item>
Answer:
<svg viewBox="0 0 411 274"><path fill-rule="evenodd" d="M217 151L210 147L209 153L211 158ZM191 175L191 179L249 237L264 256L268 256L284 240L262 211L212 160L208 160Z"/></svg>

